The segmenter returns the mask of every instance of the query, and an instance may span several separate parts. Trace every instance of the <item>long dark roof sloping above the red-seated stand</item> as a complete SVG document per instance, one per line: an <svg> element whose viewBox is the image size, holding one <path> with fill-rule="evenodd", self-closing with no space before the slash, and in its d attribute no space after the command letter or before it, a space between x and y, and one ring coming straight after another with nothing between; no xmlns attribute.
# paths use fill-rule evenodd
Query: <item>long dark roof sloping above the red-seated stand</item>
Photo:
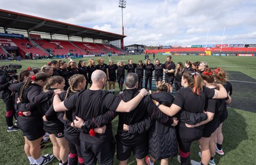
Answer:
<svg viewBox="0 0 256 165"><path fill-rule="evenodd" d="M68 36L81 36L84 38L102 39L102 40L120 40L124 35L100 31L97 29L86 28L65 22L59 22L51 19L44 19L23 13L11 12L0 9L0 27L4 29L24 29L30 31L40 31L45 33L61 34Z"/></svg>

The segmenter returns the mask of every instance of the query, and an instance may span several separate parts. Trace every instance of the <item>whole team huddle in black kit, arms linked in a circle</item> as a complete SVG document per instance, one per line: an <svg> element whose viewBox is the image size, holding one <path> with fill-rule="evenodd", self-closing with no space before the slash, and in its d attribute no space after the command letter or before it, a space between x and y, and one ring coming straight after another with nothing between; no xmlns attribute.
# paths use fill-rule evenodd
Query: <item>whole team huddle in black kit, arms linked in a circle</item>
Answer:
<svg viewBox="0 0 256 165"><path fill-rule="evenodd" d="M205 61L175 65L172 56L154 64L150 59L145 64L97 62L53 60L20 71L19 82L1 85L1 92L9 93L4 99L8 130L22 130L30 164L47 164L54 157L63 165L114 164L116 152L120 165L128 163L131 153L137 164L168 164L177 157L180 164L212 165L215 153L224 154L221 128L232 95L225 70L209 68ZM157 91L152 93L153 73ZM19 128L10 122L13 115ZM42 156L45 132L53 154ZM200 162L189 156L196 140Z"/></svg>

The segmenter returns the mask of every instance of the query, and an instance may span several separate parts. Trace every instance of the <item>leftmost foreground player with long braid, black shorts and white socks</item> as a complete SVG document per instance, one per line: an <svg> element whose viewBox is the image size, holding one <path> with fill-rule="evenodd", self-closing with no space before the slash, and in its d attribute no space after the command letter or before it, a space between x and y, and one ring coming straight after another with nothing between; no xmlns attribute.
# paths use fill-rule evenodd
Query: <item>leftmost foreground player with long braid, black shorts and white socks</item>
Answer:
<svg viewBox="0 0 256 165"><path fill-rule="evenodd" d="M50 90L42 93L42 87L47 83L49 75L40 72L28 78L28 81L19 88L19 118L17 125L23 131L26 144L29 145L29 161L33 164L47 164L54 159L54 155L41 156L40 143L44 136L42 116L44 112L38 109L42 102L52 97L60 90Z"/></svg>

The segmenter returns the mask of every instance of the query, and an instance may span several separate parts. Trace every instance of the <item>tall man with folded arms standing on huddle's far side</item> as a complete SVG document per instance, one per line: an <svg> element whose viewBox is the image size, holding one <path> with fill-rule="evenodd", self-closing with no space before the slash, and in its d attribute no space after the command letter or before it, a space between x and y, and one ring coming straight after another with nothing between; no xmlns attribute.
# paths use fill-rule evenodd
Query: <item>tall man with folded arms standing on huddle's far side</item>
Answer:
<svg viewBox="0 0 256 165"><path fill-rule="evenodd" d="M166 62L164 63L165 83L168 84L168 91L170 90L171 94L173 92L172 84L174 81L175 67L175 63L172 61L172 56L167 56Z"/></svg>

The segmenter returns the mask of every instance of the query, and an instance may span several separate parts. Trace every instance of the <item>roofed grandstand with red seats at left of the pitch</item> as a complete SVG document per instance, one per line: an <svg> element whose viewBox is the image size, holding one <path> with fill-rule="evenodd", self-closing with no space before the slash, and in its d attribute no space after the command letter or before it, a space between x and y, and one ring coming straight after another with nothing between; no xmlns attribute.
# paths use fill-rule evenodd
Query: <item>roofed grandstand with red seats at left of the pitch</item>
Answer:
<svg viewBox="0 0 256 165"><path fill-rule="evenodd" d="M0 9L0 54L25 58L124 54L124 35Z"/></svg>

